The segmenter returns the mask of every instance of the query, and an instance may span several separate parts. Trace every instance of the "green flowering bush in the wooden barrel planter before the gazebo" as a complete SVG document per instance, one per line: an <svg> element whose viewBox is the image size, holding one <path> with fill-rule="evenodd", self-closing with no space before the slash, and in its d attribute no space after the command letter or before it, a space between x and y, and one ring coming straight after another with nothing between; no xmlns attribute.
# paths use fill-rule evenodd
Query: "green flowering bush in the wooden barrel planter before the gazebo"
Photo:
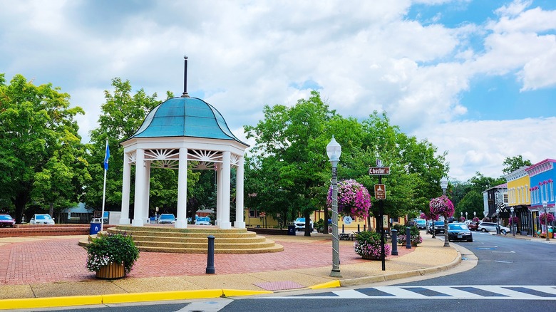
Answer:
<svg viewBox="0 0 556 312"><path fill-rule="evenodd" d="M99 271L109 264L123 264L129 273L139 258L139 249L131 236L125 234L104 234L94 238L87 249L87 269Z"/></svg>

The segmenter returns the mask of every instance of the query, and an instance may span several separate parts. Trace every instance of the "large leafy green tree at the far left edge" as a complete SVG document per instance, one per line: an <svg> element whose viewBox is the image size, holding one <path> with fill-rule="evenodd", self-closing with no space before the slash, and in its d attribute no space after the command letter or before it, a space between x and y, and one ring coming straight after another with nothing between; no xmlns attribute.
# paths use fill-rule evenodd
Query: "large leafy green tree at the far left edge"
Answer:
<svg viewBox="0 0 556 312"><path fill-rule="evenodd" d="M0 197L14 205L18 223L31 201L51 212L68 207L89 179L73 119L83 110L70 108L69 98L21 75L6 85L0 74Z"/></svg>

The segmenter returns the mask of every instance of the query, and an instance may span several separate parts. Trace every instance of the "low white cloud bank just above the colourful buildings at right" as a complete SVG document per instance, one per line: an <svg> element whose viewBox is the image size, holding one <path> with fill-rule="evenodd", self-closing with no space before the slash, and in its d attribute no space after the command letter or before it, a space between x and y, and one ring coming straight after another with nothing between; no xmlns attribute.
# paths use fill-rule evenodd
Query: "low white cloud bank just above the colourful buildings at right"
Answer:
<svg viewBox="0 0 556 312"><path fill-rule="evenodd" d="M556 155L556 145L548 135L555 132L556 117L550 117L464 120L431 125L412 134L434 142L439 154L448 151L450 177L465 181L475 172L500 177L505 157L522 155L535 163Z"/></svg>

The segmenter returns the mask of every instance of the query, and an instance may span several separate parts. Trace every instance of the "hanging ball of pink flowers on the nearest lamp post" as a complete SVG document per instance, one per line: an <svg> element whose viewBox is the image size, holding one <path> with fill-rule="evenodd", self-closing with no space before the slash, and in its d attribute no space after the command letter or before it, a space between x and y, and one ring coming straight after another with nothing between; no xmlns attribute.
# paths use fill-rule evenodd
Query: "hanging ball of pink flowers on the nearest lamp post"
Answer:
<svg viewBox="0 0 556 312"><path fill-rule="evenodd" d="M328 207L332 206L332 187L326 199ZM338 213L344 216L369 217L371 195L369 191L355 180L338 182Z"/></svg>

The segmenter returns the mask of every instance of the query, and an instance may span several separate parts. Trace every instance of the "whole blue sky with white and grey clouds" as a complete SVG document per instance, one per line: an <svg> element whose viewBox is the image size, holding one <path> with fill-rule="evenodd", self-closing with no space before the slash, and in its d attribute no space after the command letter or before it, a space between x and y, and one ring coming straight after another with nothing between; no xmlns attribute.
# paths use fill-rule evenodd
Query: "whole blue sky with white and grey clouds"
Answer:
<svg viewBox="0 0 556 312"><path fill-rule="evenodd" d="M240 138L318 90L448 151L451 180L556 158L553 0L0 0L0 30L0 73L69 93L84 141L113 78L180 95L187 55L187 91Z"/></svg>

